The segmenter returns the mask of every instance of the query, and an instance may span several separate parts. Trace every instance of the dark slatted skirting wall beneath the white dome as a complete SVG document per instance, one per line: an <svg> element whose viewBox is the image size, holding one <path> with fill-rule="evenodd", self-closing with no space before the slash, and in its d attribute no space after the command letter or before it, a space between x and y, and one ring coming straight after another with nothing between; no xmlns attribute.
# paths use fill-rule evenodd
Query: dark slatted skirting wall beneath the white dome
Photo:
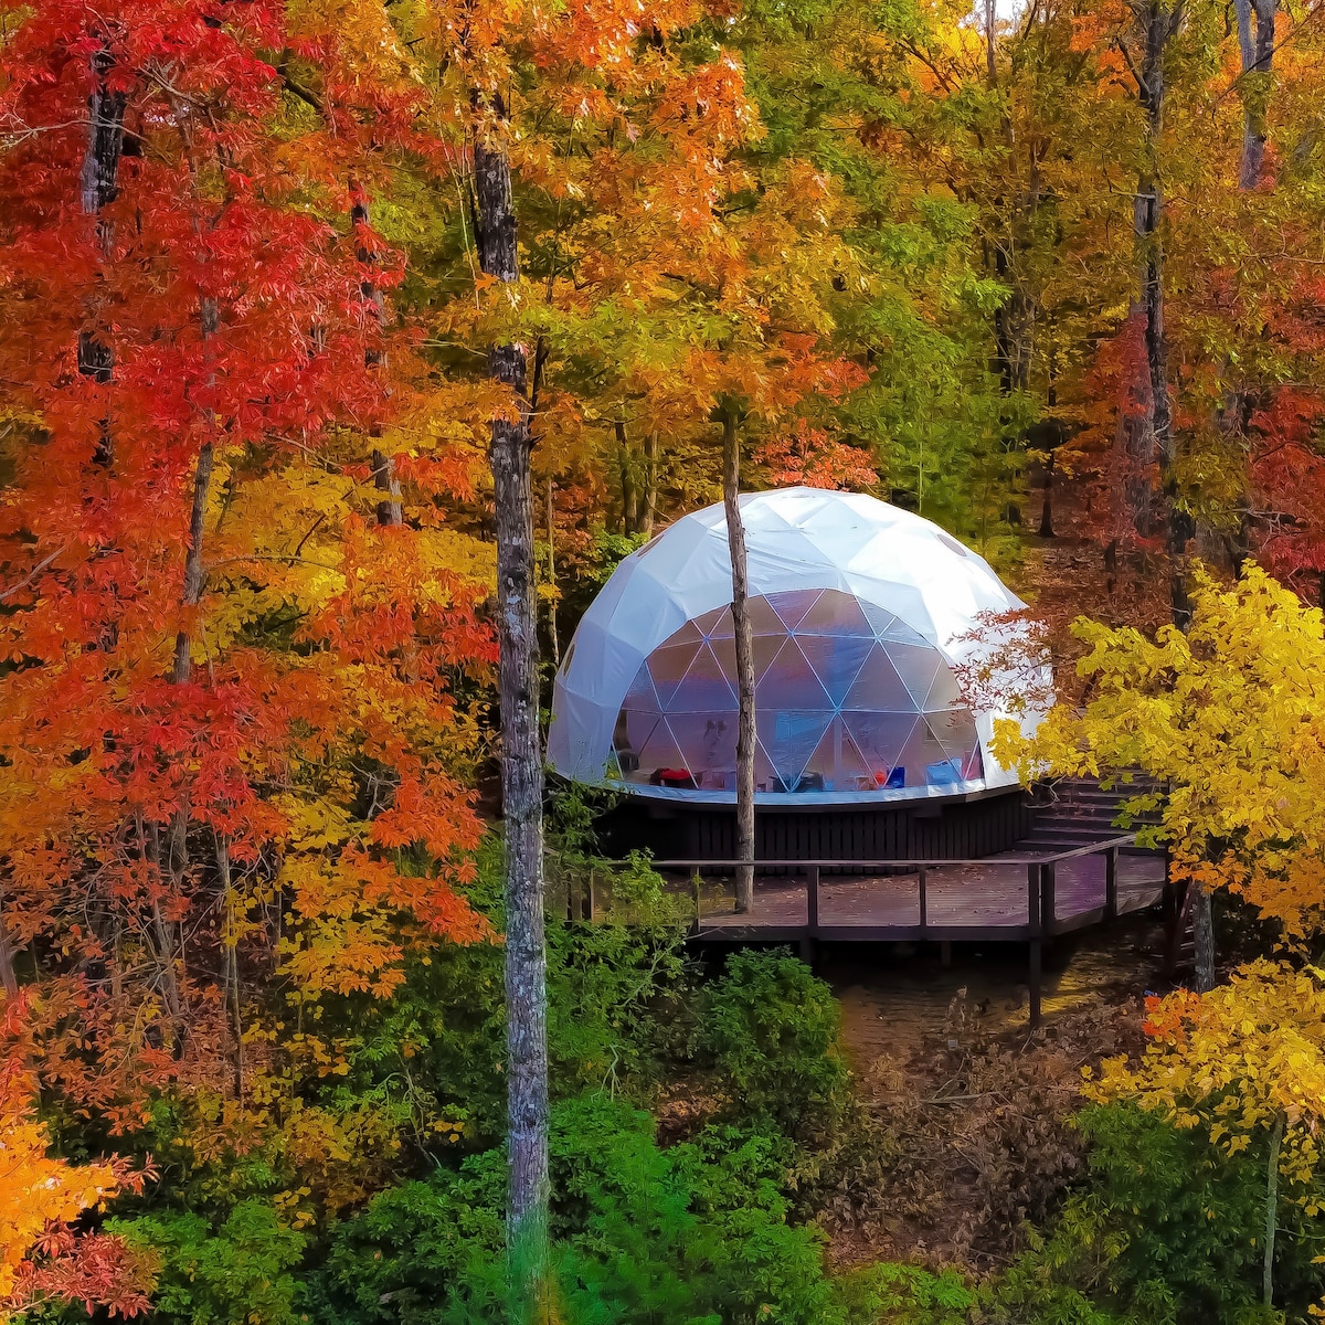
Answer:
<svg viewBox="0 0 1325 1325"><path fill-rule="evenodd" d="M1007 851L1035 824L1020 787L874 807L755 811L759 860L977 860ZM612 856L649 851L656 860L734 860L735 811L627 796L599 820Z"/></svg>

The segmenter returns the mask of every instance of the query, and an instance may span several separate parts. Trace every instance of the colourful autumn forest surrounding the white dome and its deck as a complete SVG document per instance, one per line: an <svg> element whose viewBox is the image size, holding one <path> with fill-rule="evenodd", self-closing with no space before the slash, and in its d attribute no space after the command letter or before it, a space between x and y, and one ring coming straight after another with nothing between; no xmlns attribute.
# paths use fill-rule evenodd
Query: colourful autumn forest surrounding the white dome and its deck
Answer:
<svg viewBox="0 0 1325 1325"><path fill-rule="evenodd" d="M1321 17L0 0L0 1318L1320 1314ZM599 859L579 616L799 482L1031 604L1010 757L1153 779L1218 990L880 1104Z"/></svg>

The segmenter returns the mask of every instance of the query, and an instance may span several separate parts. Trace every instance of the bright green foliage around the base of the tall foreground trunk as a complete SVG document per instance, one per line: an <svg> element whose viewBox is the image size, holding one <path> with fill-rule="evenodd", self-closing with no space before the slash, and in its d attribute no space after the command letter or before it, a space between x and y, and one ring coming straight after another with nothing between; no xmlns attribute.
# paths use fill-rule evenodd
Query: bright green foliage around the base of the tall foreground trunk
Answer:
<svg viewBox="0 0 1325 1325"><path fill-rule="evenodd" d="M844 1321L820 1243L788 1222L783 1138L734 1129L659 1147L643 1110L595 1092L554 1113L551 1232L576 1325ZM501 1318L502 1157L376 1196L341 1226L307 1300L327 1325Z"/></svg>

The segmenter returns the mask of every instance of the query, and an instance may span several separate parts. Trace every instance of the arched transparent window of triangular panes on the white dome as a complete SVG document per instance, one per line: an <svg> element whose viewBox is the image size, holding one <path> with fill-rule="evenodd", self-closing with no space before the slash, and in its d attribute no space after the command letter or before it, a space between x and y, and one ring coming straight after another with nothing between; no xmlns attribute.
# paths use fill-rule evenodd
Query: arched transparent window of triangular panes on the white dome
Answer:
<svg viewBox="0 0 1325 1325"><path fill-rule="evenodd" d="M750 599L755 790L950 786L984 771L975 719L938 649L839 590ZM686 621L644 660L613 729L613 780L734 791L731 612Z"/></svg>

